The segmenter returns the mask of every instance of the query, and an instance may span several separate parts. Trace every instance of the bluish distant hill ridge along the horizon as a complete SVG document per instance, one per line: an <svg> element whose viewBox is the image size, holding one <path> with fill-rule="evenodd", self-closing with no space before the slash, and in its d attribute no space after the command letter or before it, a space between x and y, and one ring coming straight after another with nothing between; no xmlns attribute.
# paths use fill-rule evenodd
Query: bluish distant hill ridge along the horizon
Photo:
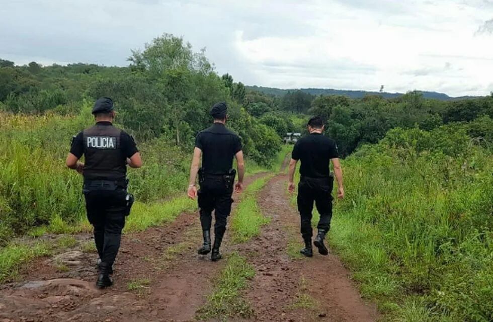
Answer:
<svg viewBox="0 0 493 322"><path fill-rule="evenodd" d="M273 88L273 87L262 87L262 86L247 86L247 89L252 90L252 91L257 91L257 92L262 92L265 94L269 95L274 95L274 96L284 96L286 93L289 91L297 91L298 89L291 89L291 90L283 90L283 89L278 89L278 88ZM362 98L365 97L366 95L379 95L384 98L396 98L399 96L404 95L403 93L387 93L387 92L368 92L368 91L351 91L351 90L335 90L335 89L314 89L314 88L309 88L309 89L299 89L300 91L303 91L305 93L309 93L311 95L345 95L350 98ZM467 99L467 98L472 98L472 96L463 96L463 97L450 97L447 94L443 93L437 93L437 92L421 92L423 93L423 97L427 99L435 99L435 100L441 100L441 101L449 101L449 100L460 100L460 99Z"/></svg>

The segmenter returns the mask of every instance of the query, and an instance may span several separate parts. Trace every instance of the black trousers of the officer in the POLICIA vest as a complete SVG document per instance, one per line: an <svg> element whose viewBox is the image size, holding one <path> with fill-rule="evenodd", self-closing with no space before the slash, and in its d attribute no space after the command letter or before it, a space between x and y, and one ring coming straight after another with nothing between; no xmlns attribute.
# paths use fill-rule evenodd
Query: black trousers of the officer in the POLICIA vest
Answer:
<svg viewBox="0 0 493 322"><path fill-rule="evenodd" d="M86 210L89 222L94 227L94 240L102 263L111 267L120 249L122 229L125 225L127 192L85 191Z"/></svg>

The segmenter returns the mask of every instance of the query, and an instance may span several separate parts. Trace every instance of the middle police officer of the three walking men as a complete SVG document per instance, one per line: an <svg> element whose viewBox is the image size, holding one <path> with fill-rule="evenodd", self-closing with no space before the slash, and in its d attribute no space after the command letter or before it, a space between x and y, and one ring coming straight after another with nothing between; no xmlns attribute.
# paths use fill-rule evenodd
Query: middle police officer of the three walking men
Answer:
<svg viewBox="0 0 493 322"><path fill-rule="evenodd" d="M209 114L214 119L214 123L197 135L190 169L188 196L195 199L198 194L200 222L204 237L204 244L197 251L201 255L211 252L210 228L214 210L216 222L211 260L217 261L221 259L219 247L226 231L226 218L231 212L233 202L231 199L235 178L235 171L232 169L233 157L236 157L238 166L238 182L234 185L234 190L238 193L243 190L244 163L240 138L225 126L226 103L215 104ZM199 171L201 155L202 168ZM197 173L200 184L198 193L195 186Z"/></svg>

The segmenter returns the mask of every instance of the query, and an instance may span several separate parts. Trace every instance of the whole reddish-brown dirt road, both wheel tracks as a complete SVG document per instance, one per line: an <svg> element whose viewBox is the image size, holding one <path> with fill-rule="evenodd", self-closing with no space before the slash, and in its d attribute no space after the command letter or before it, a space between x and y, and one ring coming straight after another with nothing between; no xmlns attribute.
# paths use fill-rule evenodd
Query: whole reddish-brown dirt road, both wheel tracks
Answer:
<svg viewBox="0 0 493 322"><path fill-rule="evenodd" d="M259 236L239 245L229 245L226 236L223 252L238 252L256 269L242 294L254 311L248 320L375 321L376 309L360 298L336 256L288 255L290 248L297 252L294 241L300 238L285 180L284 175L274 177L258 198L272 218ZM167 226L126 234L115 285L103 291L94 287L94 253L72 250L61 258L37 260L26 268L22 282L0 286L0 321L195 320L225 262L197 255L200 242L197 214L184 213ZM67 270L61 272L54 261L68 263Z"/></svg>

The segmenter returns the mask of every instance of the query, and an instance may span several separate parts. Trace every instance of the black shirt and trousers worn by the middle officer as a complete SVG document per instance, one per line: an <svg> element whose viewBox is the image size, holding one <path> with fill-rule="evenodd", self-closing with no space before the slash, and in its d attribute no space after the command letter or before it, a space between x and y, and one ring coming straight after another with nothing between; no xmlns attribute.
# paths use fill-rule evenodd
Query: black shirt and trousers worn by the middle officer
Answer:
<svg viewBox="0 0 493 322"><path fill-rule="evenodd" d="M226 218L231 212L231 195L235 172L232 170L233 157L241 151L240 138L222 123L197 135L195 146L202 150L202 168L199 171L200 190L198 204L200 222L204 232L209 231L214 211L214 250L218 251L226 231Z"/></svg>

